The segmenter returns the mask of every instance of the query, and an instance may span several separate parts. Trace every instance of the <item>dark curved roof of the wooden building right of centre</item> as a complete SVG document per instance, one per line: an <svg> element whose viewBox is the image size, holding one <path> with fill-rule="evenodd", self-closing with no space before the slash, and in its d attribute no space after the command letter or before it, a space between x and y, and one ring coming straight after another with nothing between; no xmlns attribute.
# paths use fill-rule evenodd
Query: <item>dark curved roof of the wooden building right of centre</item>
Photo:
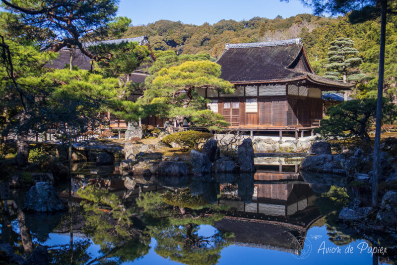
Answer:
<svg viewBox="0 0 397 265"><path fill-rule="evenodd" d="M226 49L217 63L221 65L221 78L231 83L276 83L308 80L325 87L350 88L343 84L314 73L291 69L290 66L305 58L303 43L300 38L226 44Z"/></svg>

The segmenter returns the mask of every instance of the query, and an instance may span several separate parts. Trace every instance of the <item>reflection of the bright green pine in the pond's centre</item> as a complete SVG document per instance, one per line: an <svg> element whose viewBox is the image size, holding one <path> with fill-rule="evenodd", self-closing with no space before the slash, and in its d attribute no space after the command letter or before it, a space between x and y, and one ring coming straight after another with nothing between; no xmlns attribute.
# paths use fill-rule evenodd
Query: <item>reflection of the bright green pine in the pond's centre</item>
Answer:
<svg viewBox="0 0 397 265"><path fill-rule="evenodd" d="M211 236L200 235L199 225L213 225L221 220L219 211L227 207L206 204L201 195L191 196L188 188L164 194L146 193L137 205L143 210L150 236L157 240L155 252L172 261L216 264L220 251L228 245L226 239L233 236L219 231Z"/></svg>

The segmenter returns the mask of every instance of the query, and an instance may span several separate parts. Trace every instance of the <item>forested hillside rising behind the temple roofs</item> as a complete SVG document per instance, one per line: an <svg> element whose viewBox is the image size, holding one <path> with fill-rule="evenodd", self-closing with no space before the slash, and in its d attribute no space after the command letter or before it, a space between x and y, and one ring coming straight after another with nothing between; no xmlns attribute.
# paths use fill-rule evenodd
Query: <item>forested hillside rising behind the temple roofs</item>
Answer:
<svg viewBox="0 0 397 265"><path fill-rule="evenodd" d="M388 21L385 95L397 102L397 17ZM379 21L368 21L352 25L347 17L328 18L312 14L298 14L288 18L277 16L274 19L254 17L250 20L220 20L210 25L183 24L180 21L159 20L142 26L131 26L123 37L148 35L154 50L175 50L178 54L208 52L219 58L225 43L248 43L301 37L309 60L316 73L323 75L327 64L329 43L337 37L348 37L355 42L359 57L363 59L360 70L368 79L357 86L357 96L376 96Z"/></svg>

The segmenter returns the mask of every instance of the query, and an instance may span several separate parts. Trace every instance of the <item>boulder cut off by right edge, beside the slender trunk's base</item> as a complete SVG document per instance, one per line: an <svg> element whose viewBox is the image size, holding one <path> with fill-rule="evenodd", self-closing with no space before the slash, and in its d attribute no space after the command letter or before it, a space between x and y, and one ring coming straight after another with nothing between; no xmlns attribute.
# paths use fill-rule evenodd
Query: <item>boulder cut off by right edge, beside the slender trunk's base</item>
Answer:
<svg viewBox="0 0 397 265"><path fill-rule="evenodd" d="M388 191L382 198L381 209L376 221L382 226L394 229L397 226L397 192Z"/></svg>

